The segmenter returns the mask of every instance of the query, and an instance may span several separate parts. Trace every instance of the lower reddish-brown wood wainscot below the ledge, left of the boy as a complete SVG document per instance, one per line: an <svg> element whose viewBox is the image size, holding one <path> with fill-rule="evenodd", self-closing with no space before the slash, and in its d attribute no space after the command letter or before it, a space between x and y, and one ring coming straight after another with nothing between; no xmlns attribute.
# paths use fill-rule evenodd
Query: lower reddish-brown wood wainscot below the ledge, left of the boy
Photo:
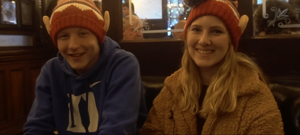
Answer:
<svg viewBox="0 0 300 135"><path fill-rule="evenodd" d="M0 63L0 71L5 71L2 78L6 80L4 90L0 91L0 95L4 95L0 134L22 134L35 97L35 80L47 60Z"/></svg>

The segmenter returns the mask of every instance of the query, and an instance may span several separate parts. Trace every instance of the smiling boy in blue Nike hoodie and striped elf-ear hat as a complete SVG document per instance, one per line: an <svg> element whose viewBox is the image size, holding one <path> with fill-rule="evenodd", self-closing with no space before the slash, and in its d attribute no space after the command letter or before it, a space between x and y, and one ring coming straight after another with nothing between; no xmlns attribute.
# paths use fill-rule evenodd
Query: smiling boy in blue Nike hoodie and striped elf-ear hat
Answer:
<svg viewBox="0 0 300 135"><path fill-rule="evenodd" d="M146 104L137 58L106 37L92 0L58 0L43 18L58 55L42 67L25 134L137 134Z"/></svg>

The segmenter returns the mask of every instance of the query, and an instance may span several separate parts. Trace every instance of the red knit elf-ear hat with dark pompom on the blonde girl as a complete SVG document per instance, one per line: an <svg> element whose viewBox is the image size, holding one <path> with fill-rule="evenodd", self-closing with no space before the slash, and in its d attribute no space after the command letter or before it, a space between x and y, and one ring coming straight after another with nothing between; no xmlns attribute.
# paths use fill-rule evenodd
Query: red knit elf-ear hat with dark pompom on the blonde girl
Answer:
<svg viewBox="0 0 300 135"><path fill-rule="evenodd" d="M242 32L247 26L248 16L241 17L237 11L237 0L184 0L185 5L192 7L192 11L187 18L187 24L184 27L184 39L186 30L192 22L204 15L212 15L221 19L229 31L234 49L238 48L238 41Z"/></svg>

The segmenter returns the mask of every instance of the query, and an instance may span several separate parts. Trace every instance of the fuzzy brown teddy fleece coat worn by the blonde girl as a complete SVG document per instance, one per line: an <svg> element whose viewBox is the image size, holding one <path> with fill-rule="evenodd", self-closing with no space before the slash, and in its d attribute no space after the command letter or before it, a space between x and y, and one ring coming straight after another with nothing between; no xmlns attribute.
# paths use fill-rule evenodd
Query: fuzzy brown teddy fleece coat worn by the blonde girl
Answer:
<svg viewBox="0 0 300 135"><path fill-rule="evenodd" d="M197 134L196 116L182 112L172 101L173 91L180 85L180 72L182 69L165 80L140 134ZM239 83L235 111L218 117L208 115L202 134L284 134L277 103L258 73L241 67Z"/></svg>

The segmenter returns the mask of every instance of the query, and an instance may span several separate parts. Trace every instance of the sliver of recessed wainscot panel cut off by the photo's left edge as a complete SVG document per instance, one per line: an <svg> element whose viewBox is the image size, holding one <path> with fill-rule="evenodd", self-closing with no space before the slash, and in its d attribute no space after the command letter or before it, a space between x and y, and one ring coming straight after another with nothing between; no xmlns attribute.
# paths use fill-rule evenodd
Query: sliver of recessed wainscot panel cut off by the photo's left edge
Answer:
<svg viewBox="0 0 300 135"><path fill-rule="evenodd" d="M4 88L4 84L5 84L5 79L4 79L4 73L3 73L3 70L1 71L0 70L0 123L3 123L5 122L5 116L4 116L4 91L5 91L5 88Z"/></svg>

